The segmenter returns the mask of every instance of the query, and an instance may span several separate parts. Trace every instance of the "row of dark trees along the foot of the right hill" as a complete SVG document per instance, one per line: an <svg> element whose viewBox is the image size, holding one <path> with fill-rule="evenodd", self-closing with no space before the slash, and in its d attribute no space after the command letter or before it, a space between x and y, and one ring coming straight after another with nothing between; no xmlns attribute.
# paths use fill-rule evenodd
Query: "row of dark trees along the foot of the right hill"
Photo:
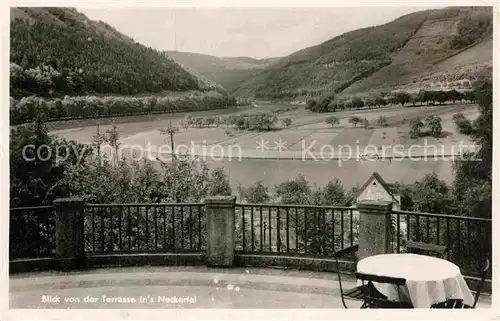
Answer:
<svg viewBox="0 0 500 321"><path fill-rule="evenodd" d="M361 97L352 97L350 99L336 99L335 96L326 96L321 99L309 99L306 102L306 109L317 113L335 112L351 109L360 109L363 107L380 108L387 105L405 106L411 103L417 105L434 105L436 103L444 104L446 102L462 103L475 101L474 92L459 92L455 89L449 91L420 90L418 93L410 94L405 91L395 93L381 93L373 97L362 99Z"/></svg>

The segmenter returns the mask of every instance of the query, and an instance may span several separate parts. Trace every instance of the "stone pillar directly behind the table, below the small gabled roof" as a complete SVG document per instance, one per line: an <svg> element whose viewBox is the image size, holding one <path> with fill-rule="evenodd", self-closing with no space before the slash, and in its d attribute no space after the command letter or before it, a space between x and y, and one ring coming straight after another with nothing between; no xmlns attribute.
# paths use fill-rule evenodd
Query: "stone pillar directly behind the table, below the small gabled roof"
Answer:
<svg viewBox="0 0 500 321"><path fill-rule="evenodd" d="M390 252L392 202L359 201L359 259Z"/></svg>

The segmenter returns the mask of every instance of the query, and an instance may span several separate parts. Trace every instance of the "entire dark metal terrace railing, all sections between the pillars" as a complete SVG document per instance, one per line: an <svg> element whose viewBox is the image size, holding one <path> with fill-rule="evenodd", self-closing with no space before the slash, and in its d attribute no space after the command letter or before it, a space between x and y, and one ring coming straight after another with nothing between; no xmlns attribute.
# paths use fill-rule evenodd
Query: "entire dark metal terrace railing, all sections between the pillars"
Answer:
<svg viewBox="0 0 500 321"><path fill-rule="evenodd" d="M234 240L230 235L222 240L231 244L234 242L236 254L331 259L334 252L361 244L360 239L366 238L359 232L360 215L366 213L358 212L355 207L234 202L225 204L223 210L217 207L214 209L213 204L210 206L212 219L214 215L217 219L234 215ZM382 212L377 210L377 215L367 215L363 221L363 228L372 226L374 235L379 235L381 232L377 225L370 220L381 215L391 218L388 222L392 226L387 234L390 239L389 248L382 247L380 250L378 247L377 253L383 252L384 248L389 252L405 252L407 240L445 245L448 247L448 259L468 276L478 275L485 258L492 261L491 219L391 211L387 206L382 208L385 208ZM215 231L211 234L207 231L207 226L210 225L207 223L207 203L82 202L77 207L77 212L73 213L64 213L63 208L54 206L12 208L10 259L56 256L56 210L61 211L57 215L83 215L83 250L90 255L207 253L207 238L209 235L217 235L217 229L220 229L217 224L212 224ZM366 210L359 207L359 211ZM64 223L57 224L62 228L61 224ZM67 232L68 229L62 228L61 235L68 236L64 231ZM366 247L372 246L370 239L363 240ZM57 242L59 241L61 244L66 242L61 238ZM73 241L76 242L76 239L70 242ZM232 248L232 245L227 248ZM67 252L68 247L64 247L63 251ZM231 255L234 253L231 252Z"/></svg>

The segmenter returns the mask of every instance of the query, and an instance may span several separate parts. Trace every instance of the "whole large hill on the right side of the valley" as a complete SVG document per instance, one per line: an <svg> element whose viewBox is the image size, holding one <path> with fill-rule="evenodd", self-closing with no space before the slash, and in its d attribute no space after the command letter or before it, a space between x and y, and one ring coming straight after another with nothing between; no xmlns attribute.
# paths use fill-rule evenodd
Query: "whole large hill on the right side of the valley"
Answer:
<svg viewBox="0 0 500 321"><path fill-rule="evenodd" d="M236 95L264 99L462 89L491 72L491 7L450 7L402 16L295 52L243 82ZM304 99L305 100L305 99Z"/></svg>

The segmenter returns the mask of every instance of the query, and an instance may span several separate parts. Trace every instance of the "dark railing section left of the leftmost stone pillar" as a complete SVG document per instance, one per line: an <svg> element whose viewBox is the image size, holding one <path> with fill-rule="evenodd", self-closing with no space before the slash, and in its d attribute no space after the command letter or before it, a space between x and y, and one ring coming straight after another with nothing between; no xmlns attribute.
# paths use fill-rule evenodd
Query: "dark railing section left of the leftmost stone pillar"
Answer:
<svg viewBox="0 0 500 321"><path fill-rule="evenodd" d="M10 259L55 256L54 206L12 208L9 224Z"/></svg>

